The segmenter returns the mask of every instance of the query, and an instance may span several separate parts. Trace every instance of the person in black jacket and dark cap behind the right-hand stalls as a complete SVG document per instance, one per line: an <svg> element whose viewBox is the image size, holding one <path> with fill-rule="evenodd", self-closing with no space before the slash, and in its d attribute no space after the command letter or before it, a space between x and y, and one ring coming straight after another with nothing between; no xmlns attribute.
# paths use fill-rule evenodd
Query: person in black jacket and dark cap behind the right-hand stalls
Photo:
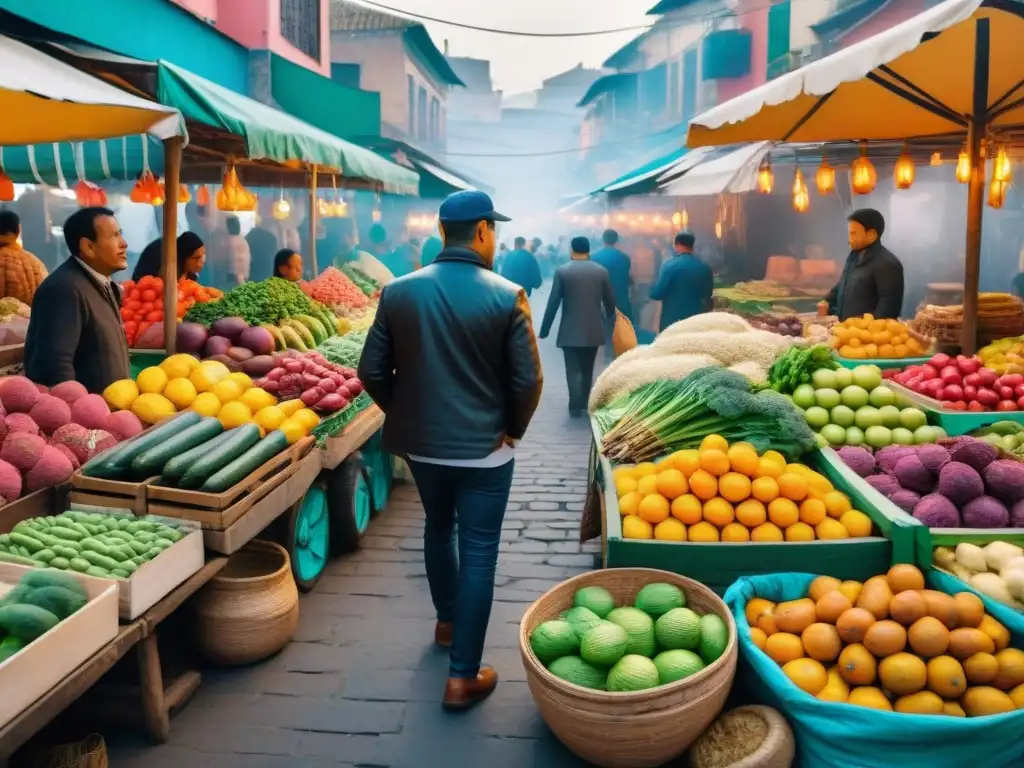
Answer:
<svg viewBox="0 0 1024 768"><path fill-rule="evenodd" d="M872 208L861 208L847 217L850 255L839 283L825 300L840 321L873 314L897 318L903 308L903 264L882 245L885 217Z"/></svg>

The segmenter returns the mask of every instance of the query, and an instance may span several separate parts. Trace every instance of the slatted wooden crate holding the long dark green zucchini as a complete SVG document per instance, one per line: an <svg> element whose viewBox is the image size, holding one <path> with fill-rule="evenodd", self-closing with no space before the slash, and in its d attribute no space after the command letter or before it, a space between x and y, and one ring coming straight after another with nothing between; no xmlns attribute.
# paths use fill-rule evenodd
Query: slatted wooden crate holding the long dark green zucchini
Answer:
<svg viewBox="0 0 1024 768"><path fill-rule="evenodd" d="M191 520L207 530L225 530L287 482L295 474L299 462L315 446L314 438L304 437L220 494L151 483L147 486L148 513Z"/></svg>

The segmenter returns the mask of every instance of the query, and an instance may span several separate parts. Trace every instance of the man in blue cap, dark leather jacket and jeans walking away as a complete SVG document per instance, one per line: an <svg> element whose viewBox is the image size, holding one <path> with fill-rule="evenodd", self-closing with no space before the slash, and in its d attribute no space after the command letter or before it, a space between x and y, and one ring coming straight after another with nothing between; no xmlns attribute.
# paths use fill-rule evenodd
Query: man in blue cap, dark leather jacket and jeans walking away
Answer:
<svg viewBox="0 0 1024 768"><path fill-rule="evenodd" d="M543 376L526 293L492 269L495 222L509 219L473 190L450 196L439 219L437 258L381 293L359 379L387 415L385 450L408 459L423 501L434 641L451 648L443 705L465 709L498 684L480 659L513 450Z"/></svg>

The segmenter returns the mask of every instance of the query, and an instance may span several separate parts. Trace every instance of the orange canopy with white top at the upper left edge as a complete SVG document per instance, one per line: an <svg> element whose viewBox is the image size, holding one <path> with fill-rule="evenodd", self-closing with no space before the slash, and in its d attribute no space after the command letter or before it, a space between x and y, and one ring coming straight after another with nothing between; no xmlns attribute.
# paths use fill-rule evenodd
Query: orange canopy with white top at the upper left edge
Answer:
<svg viewBox="0 0 1024 768"><path fill-rule="evenodd" d="M0 36L0 145L184 135L181 116Z"/></svg>

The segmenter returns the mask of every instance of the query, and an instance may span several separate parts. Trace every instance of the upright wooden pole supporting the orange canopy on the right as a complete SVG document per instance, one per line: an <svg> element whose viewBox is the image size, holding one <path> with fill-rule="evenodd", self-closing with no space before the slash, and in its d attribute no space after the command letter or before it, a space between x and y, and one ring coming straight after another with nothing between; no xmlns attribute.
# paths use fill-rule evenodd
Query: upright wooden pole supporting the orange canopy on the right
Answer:
<svg viewBox="0 0 1024 768"><path fill-rule="evenodd" d="M981 274L981 220L985 211L985 154L982 151L988 113L989 25L975 23L974 103L968 126L967 151L971 180L967 189L967 246L964 263L964 325L961 351L974 354L978 346L978 285Z"/></svg>

